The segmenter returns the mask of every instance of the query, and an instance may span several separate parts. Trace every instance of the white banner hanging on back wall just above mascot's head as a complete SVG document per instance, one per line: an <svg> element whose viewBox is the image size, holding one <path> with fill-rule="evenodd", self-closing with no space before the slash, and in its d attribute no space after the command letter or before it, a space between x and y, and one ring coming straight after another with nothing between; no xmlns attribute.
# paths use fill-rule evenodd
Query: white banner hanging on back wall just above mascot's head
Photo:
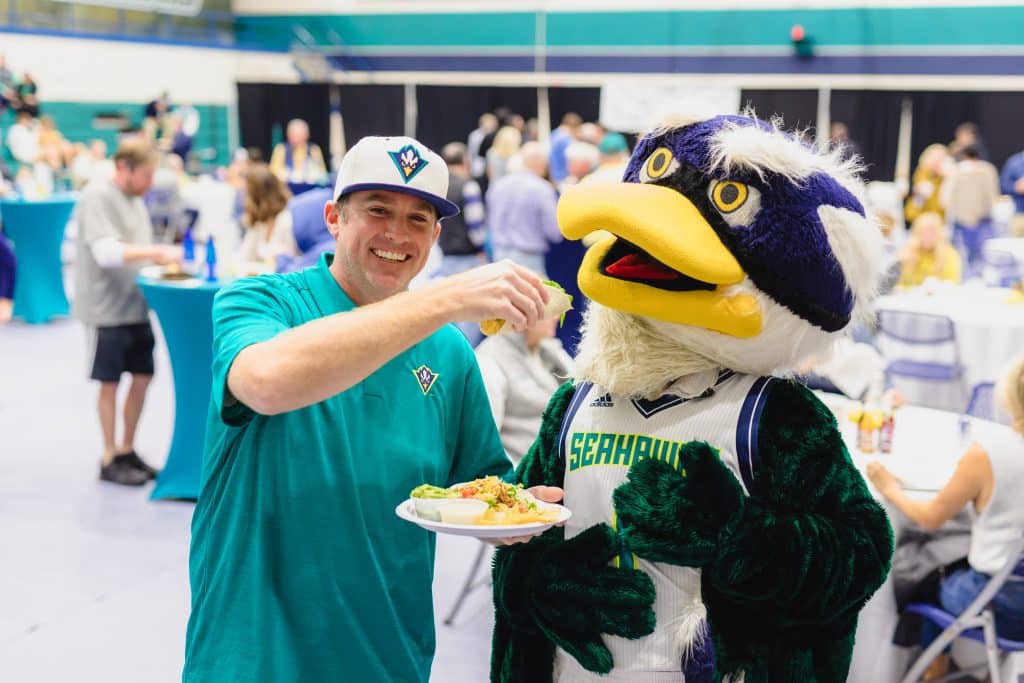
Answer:
<svg viewBox="0 0 1024 683"><path fill-rule="evenodd" d="M609 81L601 87L601 125L642 133L667 119L705 119L739 111L739 88L695 83Z"/></svg>

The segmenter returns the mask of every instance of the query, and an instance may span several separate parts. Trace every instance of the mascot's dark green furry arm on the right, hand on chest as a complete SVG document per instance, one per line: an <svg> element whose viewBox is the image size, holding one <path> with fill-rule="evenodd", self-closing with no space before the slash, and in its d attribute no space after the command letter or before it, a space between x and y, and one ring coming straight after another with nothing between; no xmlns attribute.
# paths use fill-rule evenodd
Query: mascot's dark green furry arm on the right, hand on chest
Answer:
<svg viewBox="0 0 1024 683"><path fill-rule="evenodd" d="M702 567L722 673L844 680L857 612L889 571L892 530L827 409L798 384L770 384L750 497L706 443L689 443L683 477L648 460L616 489L624 543Z"/></svg>

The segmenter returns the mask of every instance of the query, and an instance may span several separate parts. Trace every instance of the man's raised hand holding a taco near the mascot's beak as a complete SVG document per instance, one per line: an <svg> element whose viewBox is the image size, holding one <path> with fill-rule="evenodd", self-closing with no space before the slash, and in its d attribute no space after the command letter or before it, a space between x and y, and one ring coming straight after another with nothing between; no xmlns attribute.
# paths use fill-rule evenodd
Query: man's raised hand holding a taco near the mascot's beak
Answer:
<svg viewBox="0 0 1024 683"><path fill-rule="evenodd" d="M424 292L439 297L453 322L501 318L516 332L541 319L548 301L541 278L508 260L440 279Z"/></svg>

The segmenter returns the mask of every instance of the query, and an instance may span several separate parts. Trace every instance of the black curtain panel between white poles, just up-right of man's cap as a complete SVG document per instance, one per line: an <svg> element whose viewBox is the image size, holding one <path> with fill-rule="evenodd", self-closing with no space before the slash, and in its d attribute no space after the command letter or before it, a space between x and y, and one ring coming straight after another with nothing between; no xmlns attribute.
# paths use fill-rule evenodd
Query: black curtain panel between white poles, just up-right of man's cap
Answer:
<svg viewBox="0 0 1024 683"><path fill-rule="evenodd" d="M465 142L480 115L500 106L524 119L536 117L537 89L420 85L416 106L416 138L440 150L449 142Z"/></svg>

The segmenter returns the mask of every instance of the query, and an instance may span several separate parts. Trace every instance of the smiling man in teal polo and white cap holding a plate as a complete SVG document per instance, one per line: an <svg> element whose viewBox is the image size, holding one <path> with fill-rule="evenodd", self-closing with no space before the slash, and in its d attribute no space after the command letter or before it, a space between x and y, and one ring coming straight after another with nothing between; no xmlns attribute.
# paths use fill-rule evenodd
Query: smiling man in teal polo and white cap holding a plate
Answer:
<svg viewBox="0 0 1024 683"><path fill-rule="evenodd" d="M395 506L509 469L447 323L522 330L546 299L511 263L406 291L458 210L447 177L412 138L364 138L324 208L335 254L217 296L185 683L427 681L434 540Z"/></svg>

